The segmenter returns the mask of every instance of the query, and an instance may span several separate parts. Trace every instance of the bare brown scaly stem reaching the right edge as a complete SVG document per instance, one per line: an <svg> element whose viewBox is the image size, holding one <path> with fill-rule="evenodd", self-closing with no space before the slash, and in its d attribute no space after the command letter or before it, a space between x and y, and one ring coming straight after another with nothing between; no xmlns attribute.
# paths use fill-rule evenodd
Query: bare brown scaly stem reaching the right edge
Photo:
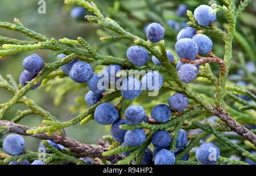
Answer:
<svg viewBox="0 0 256 176"><path fill-rule="evenodd" d="M224 110L218 110L214 105L211 113L220 118L225 122L231 129L231 131L236 132L238 135L243 136L243 138L249 140L256 147L256 135L248 130L246 127L235 121L228 113Z"/></svg>

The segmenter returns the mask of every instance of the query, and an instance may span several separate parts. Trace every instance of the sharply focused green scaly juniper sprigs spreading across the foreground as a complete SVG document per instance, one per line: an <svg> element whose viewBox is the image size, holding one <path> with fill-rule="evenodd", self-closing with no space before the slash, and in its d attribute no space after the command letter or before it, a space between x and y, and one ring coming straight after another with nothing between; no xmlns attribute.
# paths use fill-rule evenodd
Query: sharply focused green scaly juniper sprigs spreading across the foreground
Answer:
<svg viewBox="0 0 256 176"><path fill-rule="evenodd" d="M218 6L218 5L215 6L215 9L213 12L222 12L228 19L228 26L225 27L227 29L226 32L223 31L221 28L216 27L216 25L213 25L210 27L200 26L199 24L196 23L196 20L192 12L187 11L187 15L191 20L191 22L188 22L187 24L190 27L197 29L197 31L200 30L203 33L213 33L214 35L220 36L225 44L225 55L224 55L223 61L225 63L226 72L220 70L220 75L217 78L217 76L213 74L209 64L207 63L205 64L205 66L201 66L199 71L199 76L201 78L207 79L207 81L200 78L197 79L199 81L204 81L204 83L206 82L206 83L211 83L211 85L213 84L214 86L213 88L216 88L216 93L214 95L214 98L210 98L207 95L201 95L200 92L197 91L195 85L184 84L182 81L180 81L177 75L176 67L175 67L177 64L177 58L175 56L175 59L174 59L175 63L168 62L166 45L164 40L157 43L152 43L150 41L145 41L142 38L136 35L133 35L130 32L127 32L124 28L121 27L121 25L119 25L113 19L105 17L101 13L97 5L93 2L89 3L88 1L85 1L85 0L65 0L64 1L64 3L66 3L67 5L76 4L86 8L90 12L93 12L94 15L88 15L88 16L85 16L85 18L89 22L97 23L101 27L110 29L110 31L115 33L115 35L102 36L100 38L102 42L112 42L112 41L120 41L120 40L132 41L134 42L134 44L145 48L150 54L155 55L155 57L158 58L159 61L163 63L163 65L156 66L156 65L153 65L151 62L148 62L143 67L136 67L132 65L129 62L129 60L126 58L119 58L112 55L102 55L98 53L97 50L94 49L93 46L90 45L82 37L78 37L77 40L71 40L66 37L61 38L60 40L56 40L55 38L49 39L46 36L41 35L40 33L37 33L35 31L32 31L31 29L24 27L24 25L20 23L18 19L14 20L14 24L0 22L1 28L20 32L23 35L26 35L32 38L33 40L35 40L35 41L23 41L23 40L18 40L16 38L0 36L0 44L2 44L0 48L1 58L5 58L9 55L18 54L24 51L30 51L35 49L49 49L54 51L55 54L63 53L67 55L62 59L57 59L55 62L46 63L42 72L40 72L35 79L28 82L28 84L23 88L20 88L15 83L15 80L11 75L7 75L7 80L0 75L0 88L6 89L7 91L14 94L13 98L11 98L9 101L3 104L0 104L0 108L1 108L0 119L3 118L5 113L8 110L10 110L15 104L22 103L26 105L28 109L23 111L19 110L16 116L12 119L12 121L16 123L16 122L19 122L22 118L26 117L27 115L31 115L31 114L39 115L40 117L43 118L42 123L44 124L44 126L27 130L28 135L35 135L35 136L37 134L42 134L44 132L46 132L48 136L51 136L55 132L57 132L58 135L64 135L63 130L65 127L75 125L76 123L79 123L79 122L81 125L84 125L85 123L93 120L94 119L93 113L96 107L104 102L109 102L114 100L115 98L120 97L121 96L120 91L114 91L109 95L106 95L104 98L102 98L101 101L97 102L96 105L90 106L89 108L82 110L80 114L77 115L77 117L71 119L68 122L59 122L56 117L53 117L53 115L51 115L48 111L44 110L43 108L40 108L40 106L35 104L33 100L30 100L25 96L26 93L30 90L30 88L34 87L35 84L40 83L40 81L42 81L42 84L44 86L48 85L49 87L51 87L54 84L54 83L51 83L51 80L59 78L59 82L57 83L65 85L65 81L66 81L65 77L68 75L64 74L63 71L60 71L58 69L59 67L65 65L66 63L69 63L70 61L76 58L79 58L82 61L86 61L90 63L93 66L93 68L100 65L117 64L122 66L122 68L129 69L129 70L138 70L138 71L159 70L159 72L164 77L163 87L171 91L183 93L188 98L190 98L190 100L192 101L192 104L195 104L195 106L192 109L185 110L182 115L175 115L166 123L150 124L150 123L142 122L139 125L121 125L120 128L125 130L134 130L137 128L144 128L144 130L147 131L146 141L139 147L129 147L129 146L120 147L121 143L118 143L117 141L115 141L111 136L104 136L104 139L106 139L110 143L110 146L108 147L108 151L105 151L104 153L102 153L102 156L110 156L112 154L131 151L130 156L126 157L123 160L118 161L117 164L130 164L134 160L134 158L136 158L134 164L140 164L144 151L147 148L147 146L150 144L151 136L154 134L155 131L166 130L174 134L172 138L172 143L170 145L170 149L174 151L177 133L179 132L180 128L183 128L185 130L201 128L203 132L201 132L198 135L192 136L189 144L183 149L181 153L177 154L175 164L199 164L199 162L196 162L196 161L181 161L181 158L184 157L186 153L190 152L193 147L196 147L197 145L199 145L200 140L204 139L205 136L209 134L213 134L214 136L216 136L216 138L218 138L223 143L228 145L234 151L241 152L242 156L250 158L251 160L255 161L255 156L247 152L245 149L243 149L239 145L234 144L231 140L229 140L223 134L221 134L221 131L233 130L233 128L229 126L230 125L229 123L226 124L224 122L216 122L214 124L211 124L206 122L202 124L196 121L191 122L189 119L193 117L193 115L212 114L214 110L212 106L213 102L217 110L219 111L224 110L225 108L224 106L226 105L224 102L224 97L226 93L227 97L229 97L231 100L236 101L242 105L241 107L239 107L241 111L245 111L245 116L244 116L245 118L241 119L239 117L241 116L242 113L226 105L226 110L228 110L228 113L234 115L234 119L236 119L237 121L239 120L238 122L255 121L256 113L254 113L254 115L251 115L253 114L253 112L255 112L253 110L256 110L255 104L249 104L248 102L234 95L234 93L246 95L250 97L251 100L254 100L254 101L256 100L256 96L250 91L247 91L246 89L233 87L232 85L227 84L227 77L228 77L230 64L232 60L233 38L234 37L238 38L238 41L245 40L239 35L239 33L236 33L236 20L238 16L241 14L241 12L245 9L245 7L249 4L249 2L250 0L248 1L245 0L243 2L241 1L240 5L237 8L234 5L233 1L226 1L228 6ZM147 3L147 6L151 8L152 12L158 15L158 17L162 20L164 27L166 27L167 29L167 34L172 35L174 31L170 29L169 25L166 23L166 19L162 11L159 11L157 8L154 8L154 5L150 1L146 1L146 3ZM241 42L241 43L245 43L242 45L243 48L245 49L249 48L249 45L246 42ZM121 77L122 74L126 74L126 72L127 70L121 71L118 73L117 76ZM252 76L249 74L249 77L251 78ZM61 95L67 94L69 91L72 91L73 88L74 87L71 87L69 89L68 88L64 89L64 92L61 92ZM79 89L80 87L76 87L76 88ZM60 96L60 97L63 97L63 96ZM119 101L119 104L117 105L120 118L123 117L126 104L127 104L127 101L124 98L122 98L121 101ZM251 109L250 113L249 111L247 111L249 109ZM3 126L1 127L0 133L4 134L6 130L7 130L7 127ZM251 131L255 132L255 130L251 130ZM47 164L56 164L64 161L74 162L76 164L85 164L83 161L79 160L78 158L73 157L69 154L64 154L58 151L57 149L53 148L49 143L47 143L47 141L43 141L43 144L46 145L46 147L51 152L54 153L54 154L47 154L47 159L46 159ZM38 153L26 151L21 156L6 156L6 157L7 157L5 159L6 162L16 161L16 160L20 162L24 159L36 158L38 157ZM232 160L224 157L220 157L218 163L245 164L242 161Z"/></svg>

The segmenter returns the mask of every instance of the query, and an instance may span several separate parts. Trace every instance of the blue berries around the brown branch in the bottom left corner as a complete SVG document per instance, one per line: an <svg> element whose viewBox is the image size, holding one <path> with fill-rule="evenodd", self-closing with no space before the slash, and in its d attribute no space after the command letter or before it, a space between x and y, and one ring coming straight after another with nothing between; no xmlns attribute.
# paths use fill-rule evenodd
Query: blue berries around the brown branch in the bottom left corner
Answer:
<svg viewBox="0 0 256 176"><path fill-rule="evenodd" d="M52 147L58 149L59 151L67 150L67 148L65 148L63 145L56 144L51 140L46 140L46 141L49 144L51 144ZM25 151L25 149L26 149L26 143L25 143L23 137L18 134L7 135L5 137L5 139L3 140L3 150L7 154L10 154L11 156L21 155ZM39 144L39 150L41 152L52 153L51 151L49 151L46 148L46 146L43 145L42 142ZM86 162L87 164L90 164L90 165L93 164L93 160L89 157L79 158L79 159ZM74 163L62 162L60 165L67 165L67 164L74 164ZM9 162L9 165L46 165L46 163L43 162L42 160L34 160L30 164L29 161L23 160L22 162L11 161L11 162Z"/></svg>

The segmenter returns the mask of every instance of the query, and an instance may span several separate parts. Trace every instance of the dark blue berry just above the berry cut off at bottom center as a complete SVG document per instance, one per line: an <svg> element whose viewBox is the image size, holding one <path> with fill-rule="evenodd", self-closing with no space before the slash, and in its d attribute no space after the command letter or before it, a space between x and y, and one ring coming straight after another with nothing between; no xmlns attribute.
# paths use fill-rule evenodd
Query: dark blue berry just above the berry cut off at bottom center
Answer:
<svg viewBox="0 0 256 176"><path fill-rule="evenodd" d="M171 144L172 138L167 131L156 131L151 140L154 146L166 148Z"/></svg>

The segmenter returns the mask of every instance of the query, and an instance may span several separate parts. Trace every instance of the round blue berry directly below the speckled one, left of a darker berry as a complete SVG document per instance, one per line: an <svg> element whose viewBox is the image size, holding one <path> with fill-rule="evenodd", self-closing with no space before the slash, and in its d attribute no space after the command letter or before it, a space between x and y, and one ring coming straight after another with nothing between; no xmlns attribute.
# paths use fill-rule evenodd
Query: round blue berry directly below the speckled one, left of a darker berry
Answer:
<svg viewBox="0 0 256 176"><path fill-rule="evenodd" d="M142 129L127 131L125 134L125 144L129 146L139 146L146 140L145 132Z"/></svg>

